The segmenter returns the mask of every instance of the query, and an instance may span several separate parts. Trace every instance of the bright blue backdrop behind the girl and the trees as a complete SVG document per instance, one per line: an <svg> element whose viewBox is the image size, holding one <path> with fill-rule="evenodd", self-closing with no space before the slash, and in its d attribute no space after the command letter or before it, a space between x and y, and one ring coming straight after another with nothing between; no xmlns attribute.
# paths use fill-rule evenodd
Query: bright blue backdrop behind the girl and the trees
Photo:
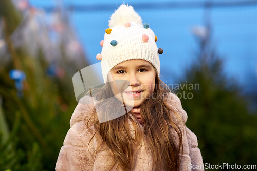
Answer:
<svg viewBox="0 0 257 171"><path fill-rule="evenodd" d="M60 1L30 0L35 7L53 7L57 2ZM196 43L192 28L196 25L203 26L204 10L203 8L148 8L149 3L153 3L152 6L161 6L167 2L182 1L157 3L156 0L133 0L125 1L125 4L134 6L143 22L149 23L150 28L158 36L157 46L164 50L160 55L161 79L164 82L175 83L183 77L185 69L195 58ZM100 41L103 39L104 30L108 28L109 17L123 1L66 0L63 3L65 6L98 7L96 11L72 11L69 16L90 64L99 62L96 60L96 55L101 53ZM256 83L257 5L214 8L211 11L211 23L213 44L217 53L224 59L226 74L234 77L241 85Z"/></svg>

